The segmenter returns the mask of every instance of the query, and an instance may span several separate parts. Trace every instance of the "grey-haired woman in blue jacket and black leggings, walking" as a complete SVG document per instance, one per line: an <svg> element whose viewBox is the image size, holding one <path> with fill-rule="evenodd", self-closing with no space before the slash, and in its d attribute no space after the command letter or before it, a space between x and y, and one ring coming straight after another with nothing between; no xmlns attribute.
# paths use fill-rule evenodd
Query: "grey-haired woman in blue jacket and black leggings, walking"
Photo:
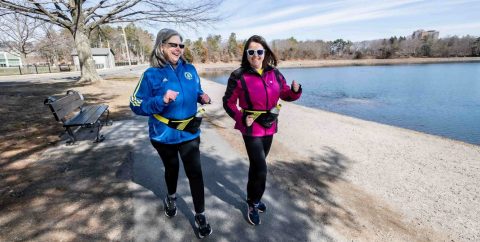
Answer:
<svg viewBox="0 0 480 242"><path fill-rule="evenodd" d="M165 215L177 214L176 190L179 171L178 154L190 183L195 222L202 238L212 233L205 218L203 175L200 164L200 122L197 102L210 103L203 92L195 67L183 57L185 45L175 30L162 29L157 34L150 57L150 68L140 78L130 98L135 114L149 116L150 141L165 166ZM199 114L200 111L199 111Z"/></svg>

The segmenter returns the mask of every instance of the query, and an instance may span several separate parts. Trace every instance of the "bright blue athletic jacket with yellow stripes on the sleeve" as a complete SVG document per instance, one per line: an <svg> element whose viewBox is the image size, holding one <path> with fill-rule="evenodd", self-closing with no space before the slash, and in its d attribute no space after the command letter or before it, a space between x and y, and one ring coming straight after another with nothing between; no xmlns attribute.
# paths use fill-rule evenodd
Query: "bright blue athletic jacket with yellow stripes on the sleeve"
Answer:
<svg viewBox="0 0 480 242"><path fill-rule="evenodd" d="M179 93L174 102L165 104L163 96L168 89ZM153 115L176 120L192 117L197 112L197 102L200 103L202 94L197 70L180 59L176 69L171 65L148 68L130 97L130 109L135 114L149 116L150 139L164 144L178 144L197 138L200 130L192 134L173 129Z"/></svg>

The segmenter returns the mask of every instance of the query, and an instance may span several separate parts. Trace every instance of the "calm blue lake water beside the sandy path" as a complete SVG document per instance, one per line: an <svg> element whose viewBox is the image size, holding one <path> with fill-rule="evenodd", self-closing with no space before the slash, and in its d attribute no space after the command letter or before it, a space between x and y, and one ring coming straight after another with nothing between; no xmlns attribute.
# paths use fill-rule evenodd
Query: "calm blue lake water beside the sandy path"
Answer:
<svg viewBox="0 0 480 242"><path fill-rule="evenodd" d="M298 104L480 144L480 63L281 69ZM205 76L225 84L229 74Z"/></svg>

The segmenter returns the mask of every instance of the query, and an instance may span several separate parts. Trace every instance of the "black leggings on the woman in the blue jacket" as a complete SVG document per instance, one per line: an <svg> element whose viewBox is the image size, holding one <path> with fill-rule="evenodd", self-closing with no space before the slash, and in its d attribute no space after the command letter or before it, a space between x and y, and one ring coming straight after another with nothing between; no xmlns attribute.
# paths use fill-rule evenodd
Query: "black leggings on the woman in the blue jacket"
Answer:
<svg viewBox="0 0 480 242"><path fill-rule="evenodd" d="M179 170L178 154L182 158L185 174L190 183L193 205L196 213L205 210L205 195L203 188L202 166L200 164L200 137L179 144L162 144L151 140L165 166L165 182L168 194L177 192Z"/></svg>

